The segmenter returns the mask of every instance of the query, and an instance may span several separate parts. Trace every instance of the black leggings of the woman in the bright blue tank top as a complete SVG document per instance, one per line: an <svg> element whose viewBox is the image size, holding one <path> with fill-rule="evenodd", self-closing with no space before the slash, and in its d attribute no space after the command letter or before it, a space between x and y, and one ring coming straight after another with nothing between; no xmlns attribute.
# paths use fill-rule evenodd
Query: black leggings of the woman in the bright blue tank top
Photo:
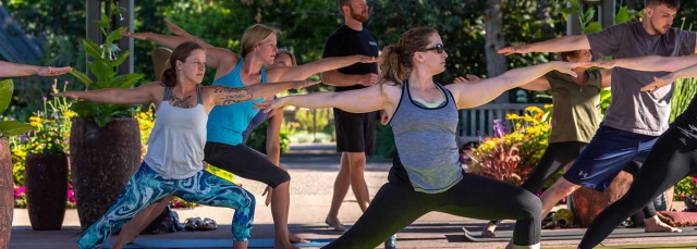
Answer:
<svg viewBox="0 0 697 249"><path fill-rule="evenodd" d="M240 177L265 183L272 188L291 180L291 175L245 145L206 142L204 160Z"/></svg>

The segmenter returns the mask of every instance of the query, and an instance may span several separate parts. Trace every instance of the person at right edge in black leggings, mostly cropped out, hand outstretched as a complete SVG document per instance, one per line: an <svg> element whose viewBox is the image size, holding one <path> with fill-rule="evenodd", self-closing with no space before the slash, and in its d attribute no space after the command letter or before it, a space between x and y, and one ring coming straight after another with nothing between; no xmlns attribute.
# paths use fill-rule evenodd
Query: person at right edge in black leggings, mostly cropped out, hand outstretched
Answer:
<svg viewBox="0 0 697 249"><path fill-rule="evenodd" d="M669 86L675 79L697 77L697 54L688 57L641 57L602 62L601 67L624 67L640 71L672 72L655 80L640 91L650 95ZM689 66L689 67L686 67ZM686 69L684 69L686 67ZM680 70L682 69L682 70ZM697 175L697 99L693 97L687 109L680 114L646 158L629 190L603 210L592 221L578 248L594 248L614 231L622 221L636 212L647 201L687 175Z"/></svg>

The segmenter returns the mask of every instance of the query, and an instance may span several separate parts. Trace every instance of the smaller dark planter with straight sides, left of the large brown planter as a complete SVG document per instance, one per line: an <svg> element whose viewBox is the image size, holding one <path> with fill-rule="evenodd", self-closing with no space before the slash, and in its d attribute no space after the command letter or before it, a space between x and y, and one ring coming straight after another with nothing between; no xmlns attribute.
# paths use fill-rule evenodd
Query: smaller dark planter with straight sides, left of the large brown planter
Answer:
<svg viewBox="0 0 697 249"><path fill-rule="evenodd" d="M32 228L60 229L68 201L65 153L27 154L24 182Z"/></svg>

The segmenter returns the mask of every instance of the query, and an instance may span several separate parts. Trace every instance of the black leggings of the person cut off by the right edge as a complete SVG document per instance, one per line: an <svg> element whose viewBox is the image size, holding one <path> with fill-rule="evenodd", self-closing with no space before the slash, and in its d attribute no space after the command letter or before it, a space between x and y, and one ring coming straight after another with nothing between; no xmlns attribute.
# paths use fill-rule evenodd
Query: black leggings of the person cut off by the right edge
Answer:
<svg viewBox="0 0 697 249"><path fill-rule="evenodd" d="M697 173L697 145L677 128L661 135L649 152L629 190L603 210L590 224L578 248L594 248L622 221L637 212L687 175Z"/></svg>

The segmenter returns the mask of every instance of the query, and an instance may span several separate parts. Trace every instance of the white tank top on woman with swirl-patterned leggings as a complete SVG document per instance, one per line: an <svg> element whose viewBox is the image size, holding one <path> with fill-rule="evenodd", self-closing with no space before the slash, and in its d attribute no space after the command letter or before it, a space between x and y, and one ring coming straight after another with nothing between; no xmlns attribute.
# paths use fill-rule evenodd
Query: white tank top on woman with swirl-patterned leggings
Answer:
<svg viewBox="0 0 697 249"><path fill-rule="evenodd" d="M198 104L184 109L169 103L172 88L155 112L157 119L143 159L155 172L173 179L194 176L204 169L204 145L208 115L204 109L200 85L196 86Z"/></svg>

